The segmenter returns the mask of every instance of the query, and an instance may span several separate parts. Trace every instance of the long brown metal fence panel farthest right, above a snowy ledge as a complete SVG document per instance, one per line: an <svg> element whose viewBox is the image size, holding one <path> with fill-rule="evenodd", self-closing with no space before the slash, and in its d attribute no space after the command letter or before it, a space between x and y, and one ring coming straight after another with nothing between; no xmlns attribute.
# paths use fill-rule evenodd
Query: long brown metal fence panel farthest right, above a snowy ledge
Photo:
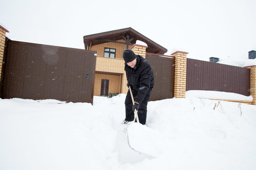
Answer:
<svg viewBox="0 0 256 170"><path fill-rule="evenodd" d="M250 95L250 69L187 59L186 90L224 91Z"/></svg>

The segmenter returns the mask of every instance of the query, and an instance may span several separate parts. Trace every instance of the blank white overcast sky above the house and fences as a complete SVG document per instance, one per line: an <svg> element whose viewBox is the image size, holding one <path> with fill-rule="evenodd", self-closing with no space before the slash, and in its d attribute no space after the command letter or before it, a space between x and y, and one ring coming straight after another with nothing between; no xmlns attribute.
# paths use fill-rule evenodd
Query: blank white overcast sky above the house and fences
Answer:
<svg viewBox="0 0 256 170"><path fill-rule="evenodd" d="M11 40L84 49L83 36L131 27L188 58L247 59L256 50L255 0L1 2Z"/></svg>

